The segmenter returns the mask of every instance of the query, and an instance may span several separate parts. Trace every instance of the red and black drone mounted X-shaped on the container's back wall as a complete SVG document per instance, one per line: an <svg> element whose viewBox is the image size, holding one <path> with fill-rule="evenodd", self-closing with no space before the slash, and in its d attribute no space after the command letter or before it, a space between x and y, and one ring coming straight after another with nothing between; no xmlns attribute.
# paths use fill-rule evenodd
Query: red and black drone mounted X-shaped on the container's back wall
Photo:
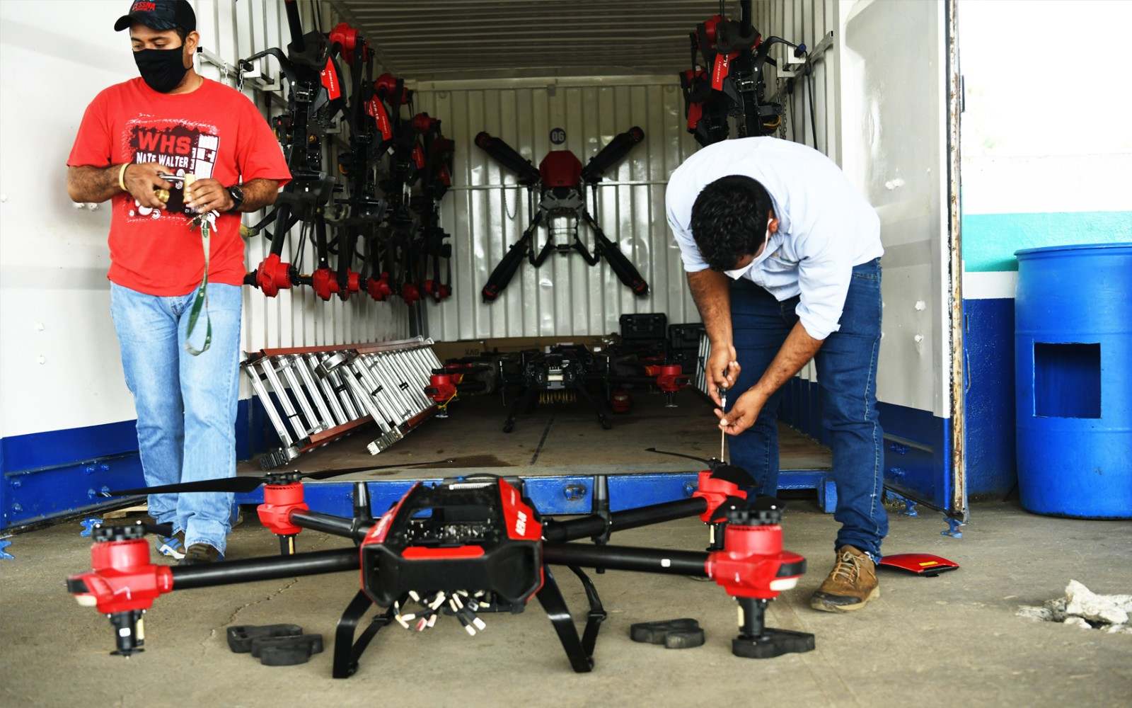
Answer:
<svg viewBox="0 0 1132 708"><path fill-rule="evenodd" d="M518 176L518 184L528 187L528 212L533 213L530 225L523 236L507 250L499 265L491 271L488 282L483 285L483 301L490 302L499 297L515 275L523 257L534 267L539 267L552 253L566 256L571 251L578 255L589 265L597 265L602 258L617 274L618 280L636 296L649 293L649 283L641 276L636 266L625 257L617 244L614 244L590 215L586 208L585 186L593 193L594 204L598 199L598 182L602 173L628 154L633 146L644 139L644 130L637 127L618 134L601 148L590 162L582 167L577 155L568 150L552 150L547 153L539 167L518 154L515 148L503 139L487 133L475 136L475 144L482 147L500 164ZM538 211L534 210L534 193L539 193ZM571 217L571 241L559 244L555 239L555 222L558 217ZM578 236L582 223L593 231L593 250L586 248ZM537 246L534 234L539 227L547 228L547 241L541 248Z"/></svg>

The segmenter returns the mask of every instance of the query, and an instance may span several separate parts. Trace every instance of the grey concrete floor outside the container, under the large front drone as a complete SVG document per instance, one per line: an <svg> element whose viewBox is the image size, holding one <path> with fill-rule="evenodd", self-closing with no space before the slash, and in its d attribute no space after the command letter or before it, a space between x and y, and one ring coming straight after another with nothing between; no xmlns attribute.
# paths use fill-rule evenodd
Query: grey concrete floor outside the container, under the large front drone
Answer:
<svg viewBox="0 0 1132 708"><path fill-rule="evenodd" d="M486 615L487 631L464 634L452 619L424 634L383 630L350 680L331 679L338 614L354 573L173 592L147 615L146 651L108 656L109 623L79 607L63 579L88 566L77 523L14 537L0 561L2 706L1117 706L1132 696L1132 637L1087 632L1014 616L1018 604L1062 592L1071 578L1098 592L1132 590L1132 522L1036 517L1009 504L976 505L962 539L940 535L940 517L894 515L885 548L954 558L962 569L934 579L884 574L883 595L865 611L811 611L809 592L831 562L835 522L795 501L788 548L809 557L798 589L772 604L770 623L814 632L817 649L769 660L730 654L731 600L714 583L609 572L595 577L609 620L591 674L569 671L537 604L521 615ZM617 535L624 545L698 549L698 522ZM306 531L305 549L341 539ZM266 555L274 539L255 523L238 528L230 557ZM575 612L584 599L559 572ZM697 617L703 647L636 645L628 625ZM230 624L292 622L326 638L309 664L267 667L225 645Z"/></svg>

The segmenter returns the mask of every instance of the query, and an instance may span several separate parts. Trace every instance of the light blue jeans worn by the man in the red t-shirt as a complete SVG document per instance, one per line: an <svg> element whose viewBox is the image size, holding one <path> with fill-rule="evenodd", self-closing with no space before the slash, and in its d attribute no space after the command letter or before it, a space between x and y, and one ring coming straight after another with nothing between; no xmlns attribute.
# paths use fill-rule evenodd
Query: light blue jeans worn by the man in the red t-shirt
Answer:
<svg viewBox="0 0 1132 708"><path fill-rule="evenodd" d="M240 369L240 288L208 284L212 346L185 350L194 293L160 297L110 284L110 313L126 385L138 415L138 449L147 486L235 475L235 408ZM192 343L204 342L201 316ZM224 553L231 493L151 494L149 515L185 531L185 545Z"/></svg>

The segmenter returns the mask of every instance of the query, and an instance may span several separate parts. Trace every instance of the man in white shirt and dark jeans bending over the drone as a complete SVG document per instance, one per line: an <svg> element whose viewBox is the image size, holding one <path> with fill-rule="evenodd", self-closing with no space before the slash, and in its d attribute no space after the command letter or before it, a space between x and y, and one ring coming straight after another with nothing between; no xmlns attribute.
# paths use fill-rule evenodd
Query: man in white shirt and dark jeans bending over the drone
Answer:
<svg viewBox="0 0 1132 708"><path fill-rule="evenodd" d="M781 386L815 359L841 523L833 570L811 606L864 607L880 595L887 534L876 412L881 227L822 153L771 137L702 148L669 179L668 223L711 340L707 389L731 462L778 491Z"/></svg>

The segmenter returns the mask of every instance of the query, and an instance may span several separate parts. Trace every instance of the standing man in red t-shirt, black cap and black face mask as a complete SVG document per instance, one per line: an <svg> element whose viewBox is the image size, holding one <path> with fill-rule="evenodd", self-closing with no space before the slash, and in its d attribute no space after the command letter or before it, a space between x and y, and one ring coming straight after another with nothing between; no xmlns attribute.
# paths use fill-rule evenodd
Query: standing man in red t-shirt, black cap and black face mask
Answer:
<svg viewBox="0 0 1132 708"><path fill-rule="evenodd" d="M200 37L186 0L136 0L114 24L126 28L142 76L87 106L67 161L67 190L75 202L112 204L111 315L146 484L231 477L245 274L240 212L274 203L291 173L256 106L192 69ZM180 184L166 177L187 174L196 177L185 187L187 208L166 208L166 201L177 204L168 190L175 194ZM182 564L223 557L232 501L221 493L151 495L149 515L174 530L161 540L162 552Z"/></svg>

